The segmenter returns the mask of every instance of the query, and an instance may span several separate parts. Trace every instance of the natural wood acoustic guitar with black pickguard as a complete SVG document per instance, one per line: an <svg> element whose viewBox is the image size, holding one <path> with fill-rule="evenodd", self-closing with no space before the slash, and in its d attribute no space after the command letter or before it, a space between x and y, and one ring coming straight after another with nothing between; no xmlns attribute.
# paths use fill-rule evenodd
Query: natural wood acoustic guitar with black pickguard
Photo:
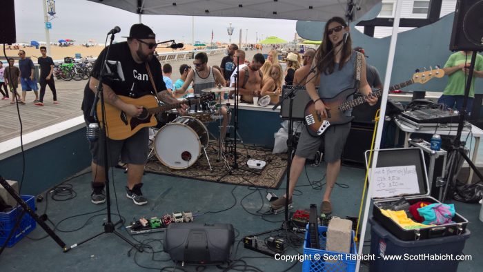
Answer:
<svg viewBox="0 0 483 272"><path fill-rule="evenodd" d="M156 126L156 113L172 110L173 108L181 107L181 104L188 106L200 104L203 101L210 101L215 99L215 94L209 93L201 97L193 97L175 104L165 104L158 106L157 100L153 95L144 95L139 98L131 98L123 95L118 95L119 99L127 104L143 106L143 112L139 117L130 117L124 111L119 110L115 106L105 104L106 110L106 133L109 139L127 139L134 135L141 128L147 126ZM99 122L104 126L103 117L101 116L101 103L97 103L97 113L99 114Z"/></svg>

